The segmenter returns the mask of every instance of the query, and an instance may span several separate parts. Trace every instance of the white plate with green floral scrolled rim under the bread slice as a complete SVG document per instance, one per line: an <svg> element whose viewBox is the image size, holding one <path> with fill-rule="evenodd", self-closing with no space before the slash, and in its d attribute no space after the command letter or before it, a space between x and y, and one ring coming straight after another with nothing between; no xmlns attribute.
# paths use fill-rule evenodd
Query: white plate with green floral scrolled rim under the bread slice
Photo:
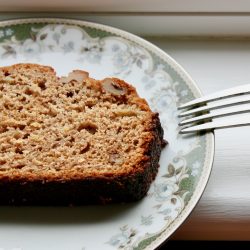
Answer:
<svg viewBox="0 0 250 250"><path fill-rule="evenodd" d="M147 197L121 205L1 207L0 249L154 249L190 214L207 183L212 133L178 133L177 106L200 92L165 52L127 32L65 19L0 23L0 66L51 65L59 75L84 69L97 79L117 76L133 84L160 113L165 139L160 169Z"/></svg>

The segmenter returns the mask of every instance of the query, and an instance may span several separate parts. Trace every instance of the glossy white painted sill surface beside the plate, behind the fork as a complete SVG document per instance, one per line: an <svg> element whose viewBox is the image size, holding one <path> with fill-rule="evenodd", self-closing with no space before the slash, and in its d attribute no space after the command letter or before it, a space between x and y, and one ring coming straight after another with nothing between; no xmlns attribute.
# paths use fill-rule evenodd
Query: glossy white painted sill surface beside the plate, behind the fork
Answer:
<svg viewBox="0 0 250 250"><path fill-rule="evenodd" d="M180 63L203 94L250 83L250 40L147 39ZM250 240L250 127L215 131L208 185L172 238Z"/></svg>

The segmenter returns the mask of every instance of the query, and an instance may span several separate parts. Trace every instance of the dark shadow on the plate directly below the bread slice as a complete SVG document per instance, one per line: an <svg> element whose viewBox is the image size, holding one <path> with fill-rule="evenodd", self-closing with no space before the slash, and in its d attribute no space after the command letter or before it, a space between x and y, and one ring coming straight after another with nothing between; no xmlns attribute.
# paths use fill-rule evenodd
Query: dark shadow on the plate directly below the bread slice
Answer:
<svg viewBox="0 0 250 250"><path fill-rule="evenodd" d="M0 207L0 226L4 224L94 224L119 219L133 213L141 202L77 207Z"/></svg>

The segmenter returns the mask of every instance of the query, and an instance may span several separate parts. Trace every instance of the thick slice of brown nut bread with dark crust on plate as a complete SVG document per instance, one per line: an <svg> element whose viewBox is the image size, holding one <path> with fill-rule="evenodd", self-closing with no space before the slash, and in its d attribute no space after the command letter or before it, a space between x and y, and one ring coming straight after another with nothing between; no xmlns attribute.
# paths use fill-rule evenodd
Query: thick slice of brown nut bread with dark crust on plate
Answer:
<svg viewBox="0 0 250 250"><path fill-rule="evenodd" d="M0 68L0 204L139 200L163 144L158 114L122 80Z"/></svg>

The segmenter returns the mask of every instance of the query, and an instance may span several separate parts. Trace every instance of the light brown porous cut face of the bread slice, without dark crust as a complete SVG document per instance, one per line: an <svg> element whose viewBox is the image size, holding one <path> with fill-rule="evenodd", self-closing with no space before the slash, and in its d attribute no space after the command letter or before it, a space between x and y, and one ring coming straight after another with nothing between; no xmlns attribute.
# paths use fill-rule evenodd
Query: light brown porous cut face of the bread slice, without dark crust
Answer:
<svg viewBox="0 0 250 250"><path fill-rule="evenodd" d="M116 78L94 80L81 70L58 78L51 67L36 64L0 68L0 179L143 172L152 142L162 143L156 117Z"/></svg>

